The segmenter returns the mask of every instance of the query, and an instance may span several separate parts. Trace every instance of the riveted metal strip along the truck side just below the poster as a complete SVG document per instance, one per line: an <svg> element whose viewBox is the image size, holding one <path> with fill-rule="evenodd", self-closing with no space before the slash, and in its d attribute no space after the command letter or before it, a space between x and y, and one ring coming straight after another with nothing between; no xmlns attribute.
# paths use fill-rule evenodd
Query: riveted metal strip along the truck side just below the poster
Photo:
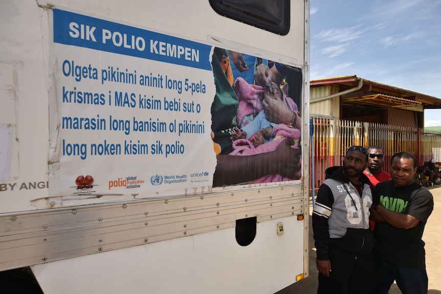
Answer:
<svg viewBox="0 0 441 294"><path fill-rule="evenodd" d="M236 219L247 217L257 217L257 222L289 216L296 219L305 213L305 205L303 195L295 191L249 189L237 194L5 214L0 216L4 224L0 232L0 269L218 232L235 228ZM236 243L234 238L230 241Z"/></svg>

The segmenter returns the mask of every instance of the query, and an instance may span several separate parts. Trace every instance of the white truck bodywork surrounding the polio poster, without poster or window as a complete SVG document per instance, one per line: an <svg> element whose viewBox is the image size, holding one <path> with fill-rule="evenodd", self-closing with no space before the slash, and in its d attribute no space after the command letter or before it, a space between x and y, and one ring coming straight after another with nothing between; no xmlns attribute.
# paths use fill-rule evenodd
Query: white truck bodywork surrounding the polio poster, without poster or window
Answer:
<svg viewBox="0 0 441 294"><path fill-rule="evenodd" d="M49 104L56 80L50 56L52 12L45 9L54 5L210 46L270 55L303 70L307 99L303 40L308 39L309 2L291 1L286 36L218 15L208 0L49 4L0 3L0 167L5 167L0 170L0 271L31 266L45 293L273 293L294 283L297 275L307 277L307 100L299 105L303 177L294 183L206 186L156 198L49 197L54 151ZM235 221L249 217L256 217L256 236L240 246ZM278 222L283 223L281 236Z"/></svg>

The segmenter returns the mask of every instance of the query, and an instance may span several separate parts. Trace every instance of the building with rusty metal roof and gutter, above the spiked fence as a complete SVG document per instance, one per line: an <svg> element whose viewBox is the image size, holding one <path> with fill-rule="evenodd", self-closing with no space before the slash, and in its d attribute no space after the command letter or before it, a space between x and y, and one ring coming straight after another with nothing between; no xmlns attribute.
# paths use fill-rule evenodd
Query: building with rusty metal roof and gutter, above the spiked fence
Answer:
<svg viewBox="0 0 441 294"><path fill-rule="evenodd" d="M424 127L424 109L441 99L356 75L310 81L310 113L405 127Z"/></svg>

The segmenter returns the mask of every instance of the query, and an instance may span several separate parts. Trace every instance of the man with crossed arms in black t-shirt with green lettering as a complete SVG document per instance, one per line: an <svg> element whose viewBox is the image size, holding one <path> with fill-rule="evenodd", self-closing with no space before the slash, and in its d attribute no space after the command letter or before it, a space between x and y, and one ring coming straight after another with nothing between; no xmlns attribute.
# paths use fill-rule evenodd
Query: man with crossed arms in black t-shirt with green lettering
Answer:
<svg viewBox="0 0 441 294"><path fill-rule="evenodd" d="M433 211L433 196L413 180L416 158L407 152L392 156L392 180L372 190L370 218L377 244L376 294L386 294L393 281L403 293L427 294L426 253L421 239Z"/></svg>

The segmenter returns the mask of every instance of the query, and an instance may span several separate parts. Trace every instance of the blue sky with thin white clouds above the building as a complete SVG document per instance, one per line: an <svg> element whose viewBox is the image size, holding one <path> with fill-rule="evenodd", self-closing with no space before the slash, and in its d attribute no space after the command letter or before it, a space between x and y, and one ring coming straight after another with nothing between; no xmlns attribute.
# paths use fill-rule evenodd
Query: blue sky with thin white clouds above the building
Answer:
<svg viewBox="0 0 441 294"><path fill-rule="evenodd" d="M441 99L441 0L310 0L310 78L357 75ZM441 109L425 110L441 126Z"/></svg>

